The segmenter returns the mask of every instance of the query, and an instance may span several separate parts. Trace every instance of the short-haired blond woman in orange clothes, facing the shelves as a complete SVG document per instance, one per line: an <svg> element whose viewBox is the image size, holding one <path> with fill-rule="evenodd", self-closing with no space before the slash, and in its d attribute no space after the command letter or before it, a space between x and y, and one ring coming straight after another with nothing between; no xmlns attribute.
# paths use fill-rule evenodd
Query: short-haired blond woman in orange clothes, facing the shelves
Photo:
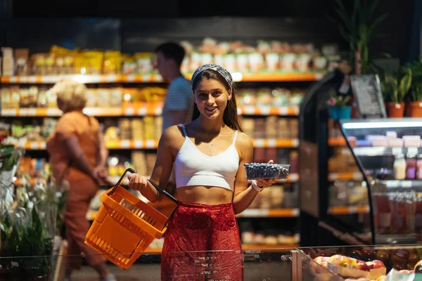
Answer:
<svg viewBox="0 0 422 281"><path fill-rule="evenodd" d="M65 209L70 255L66 260L66 278L70 280L72 270L80 268L81 261L77 255L84 253L101 280L115 280L103 256L84 244L90 226L86 219L89 204L100 184L108 183L105 170L108 150L100 126L94 117L82 112L87 103L84 84L59 81L51 91L57 96L57 105L63 116L58 119L55 131L47 140L47 151L56 181L62 183L65 180L70 185Z"/></svg>

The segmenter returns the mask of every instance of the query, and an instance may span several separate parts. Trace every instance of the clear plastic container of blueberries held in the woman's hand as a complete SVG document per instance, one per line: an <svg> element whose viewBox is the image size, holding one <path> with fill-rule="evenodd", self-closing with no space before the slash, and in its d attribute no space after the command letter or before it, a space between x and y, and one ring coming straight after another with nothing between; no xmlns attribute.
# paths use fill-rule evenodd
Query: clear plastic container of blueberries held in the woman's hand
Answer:
<svg viewBox="0 0 422 281"><path fill-rule="evenodd" d="M248 180L257 180L257 179L276 179L276 180L283 180L288 177L288 174L290 172L290 164L269 164L266 165L269 166L268 169L263 169L253 166L252 164L261 164L261 163L250 163L245 164L245 172L246 172L246 178ZM271 169L271 166L276 166L278 169ZM279 169L283 169L283 173L279 171Z"/></svg>

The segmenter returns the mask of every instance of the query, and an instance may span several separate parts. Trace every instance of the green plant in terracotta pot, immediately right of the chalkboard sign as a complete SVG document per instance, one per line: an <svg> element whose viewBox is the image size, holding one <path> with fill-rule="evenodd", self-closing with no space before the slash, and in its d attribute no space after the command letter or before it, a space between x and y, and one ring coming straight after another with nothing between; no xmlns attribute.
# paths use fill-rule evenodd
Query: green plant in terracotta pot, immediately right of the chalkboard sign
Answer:
<svg viewBox="0 0 422 281"><path fill-rule="evenodd" d="M402 118L404 116L404 96L411 86L411 69L403 67L395 74L385 74L381 89L386 100L388 116Z"/></svg>

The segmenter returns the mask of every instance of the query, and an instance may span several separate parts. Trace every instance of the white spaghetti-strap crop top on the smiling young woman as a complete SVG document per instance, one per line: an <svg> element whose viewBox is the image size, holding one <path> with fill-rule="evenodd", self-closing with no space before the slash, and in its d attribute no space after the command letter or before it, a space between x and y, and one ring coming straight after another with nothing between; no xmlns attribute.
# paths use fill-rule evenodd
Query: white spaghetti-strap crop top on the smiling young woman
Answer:
<svg viewBox="0 0 422 281"><path fill-rule="evenodd" d="M239 155L234 146L238 131L229 148L219 155L209 156L198 150L188 138L182 124L178 126L183 129L185 141L174 160L176 187L203 185L234 190L234 180L239 168Z"/></svg>

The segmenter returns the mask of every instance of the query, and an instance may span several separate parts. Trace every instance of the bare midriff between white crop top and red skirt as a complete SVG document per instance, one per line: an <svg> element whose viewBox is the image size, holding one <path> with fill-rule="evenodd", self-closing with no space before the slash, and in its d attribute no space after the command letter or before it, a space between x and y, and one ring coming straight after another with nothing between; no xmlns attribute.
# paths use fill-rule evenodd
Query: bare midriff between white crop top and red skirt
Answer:
<svg viewBox="0 0 422 281"><path fill-rule="evenodd" d="M186 186L177 188L177 200L186 203L217 205L230 203L233 191L212 186Z"/></svg>

